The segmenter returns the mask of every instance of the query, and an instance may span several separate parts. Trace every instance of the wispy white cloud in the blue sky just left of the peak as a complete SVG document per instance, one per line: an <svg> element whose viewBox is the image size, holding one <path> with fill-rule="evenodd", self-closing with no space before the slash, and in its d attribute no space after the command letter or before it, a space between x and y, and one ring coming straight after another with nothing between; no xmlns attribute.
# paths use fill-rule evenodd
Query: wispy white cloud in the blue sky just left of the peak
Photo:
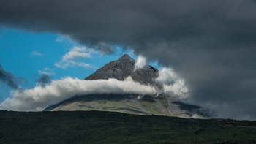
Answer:
<svg viewBox="0 0 256 144"><path fill-rule="evenodd" d="M87 52L87 53L83 53L83 52ZM61 69L66 69L67 67L84 67L88 69L97 69L97 67L92 66L90 64L73 61L80 58L91 58L91 54L94 54L94 53L98 53L98 52L91 48L75 46L68 53L62 56L61 61L59 61L54 65Z"/></svg>

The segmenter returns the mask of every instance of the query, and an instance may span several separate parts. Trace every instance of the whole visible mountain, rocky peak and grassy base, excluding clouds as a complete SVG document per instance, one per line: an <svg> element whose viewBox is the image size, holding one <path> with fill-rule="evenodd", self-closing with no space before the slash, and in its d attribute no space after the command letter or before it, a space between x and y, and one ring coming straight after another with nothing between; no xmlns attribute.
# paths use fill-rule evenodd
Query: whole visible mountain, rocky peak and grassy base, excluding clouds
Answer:
<svg viewBox="0 0 256 144"><path fill-rule="evenodd" d="M108 80L115 78L124 80L127 77L143 85L158 86L154 79L158 77L159 70L146 65L141 69L135 68L136 61L127 54L121 56L117 61L111 61L104 67L97 69L94 74L86 77L84 80ZM159 94L157 97L144 96L138 99L135 94L92 94L86 96L74 96L71 99L59 102L56 105L45 108L45 111L57 110L102 110L115 111L131 114L154 114L169 115L178 117L191 117L194 114L207 117L207 110L202 107L187 105L173 99L165 94Z"/></svg>

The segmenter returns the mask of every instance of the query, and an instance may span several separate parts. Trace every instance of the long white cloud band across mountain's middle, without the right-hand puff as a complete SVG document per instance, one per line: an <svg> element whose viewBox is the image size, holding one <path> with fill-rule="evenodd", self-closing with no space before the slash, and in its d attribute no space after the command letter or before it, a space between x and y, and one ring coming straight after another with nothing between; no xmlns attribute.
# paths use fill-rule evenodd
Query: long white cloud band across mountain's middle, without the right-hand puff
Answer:
<svg viewBox="0 0 256 144"><path fill-rule="evenodd" d="M154 87L144 86L132 80L79 80L66 77L52 80L45 87L36 86L24 91L11 91L11 98L4 100L4 110L39 111L75 95L86 94L148 94L155 95Z"/></svg>

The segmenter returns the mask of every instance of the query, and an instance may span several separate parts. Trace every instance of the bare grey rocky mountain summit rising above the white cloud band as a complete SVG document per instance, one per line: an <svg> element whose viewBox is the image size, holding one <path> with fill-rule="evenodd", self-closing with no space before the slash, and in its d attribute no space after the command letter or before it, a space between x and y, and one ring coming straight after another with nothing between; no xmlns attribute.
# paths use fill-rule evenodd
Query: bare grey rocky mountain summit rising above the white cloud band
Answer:
<svg viewBox="0 0 256 144"><path fill-rule="evenodd" d="M158 77L158 69L147 65L142 69L134 70L136 61L130 58L127 54L124 54L117 61L111 61L104 67L98 69L94 74L86 77L85 80L108 80L109 78L115 78L117 80L124 80L131 76L136 82L144 85L154 85L154 78Z"/></svg>

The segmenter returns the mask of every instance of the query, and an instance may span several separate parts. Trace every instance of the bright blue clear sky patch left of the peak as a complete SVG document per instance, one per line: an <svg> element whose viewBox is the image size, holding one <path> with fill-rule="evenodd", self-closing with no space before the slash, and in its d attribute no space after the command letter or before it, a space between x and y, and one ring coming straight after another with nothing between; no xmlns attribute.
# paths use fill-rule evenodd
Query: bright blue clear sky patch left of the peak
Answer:
<svg viewBox="0 0 256 144"><path fill-rule="evenodd" d="M36 80L43 73L48 74L51 80L59 80L61 77L84 79L108 62L117 60L124 53L134 59L137 57L130 50L122 52L121 48L116 48L116 53L108 56L100 56L97 51L89 53L85 50L79 53L89 53L91 58L71 58L69 60L75 61L77 66L64 69L56 67L56 64L67 64L63 60L63 56L75 47L86 49L86 45L78 45L69 38L57 34L37 34L6 28L0 30L0 64L5 71L26 80L26 82L20 83L24 89L36 86ZM92 68L81 67L78 65L79 63L89 64ZM151 64L157 67L156 62ZM4 83L0 83L0 88L0 102L3 102L10 96L12 89Z"/></svg>

